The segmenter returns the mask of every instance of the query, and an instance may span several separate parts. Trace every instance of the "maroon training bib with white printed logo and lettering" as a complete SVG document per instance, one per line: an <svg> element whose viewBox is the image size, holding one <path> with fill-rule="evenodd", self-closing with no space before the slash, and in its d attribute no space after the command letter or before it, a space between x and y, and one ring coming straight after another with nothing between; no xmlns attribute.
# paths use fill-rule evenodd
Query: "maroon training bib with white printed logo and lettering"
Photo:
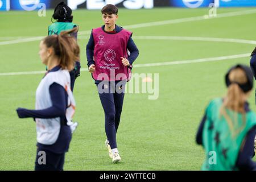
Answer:
<svg viewBox="0 0 256 182"><path fill-rule="evenodd" d="M127 43L131 32L125 29L117 34L108 34L101 27L93 29L94 39L94 80L130 80L131 67L122 64L121 57L128 58Z"/></svg>

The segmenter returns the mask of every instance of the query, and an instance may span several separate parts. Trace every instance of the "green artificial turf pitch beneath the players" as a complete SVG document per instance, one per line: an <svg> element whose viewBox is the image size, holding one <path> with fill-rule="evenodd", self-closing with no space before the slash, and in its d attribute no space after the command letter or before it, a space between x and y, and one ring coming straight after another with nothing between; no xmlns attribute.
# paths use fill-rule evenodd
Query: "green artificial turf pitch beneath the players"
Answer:
<svg viewBox="0 0 256 182"><path fill-rule="evenodd" d="M250 10L218 9L217 14L225 14L223 17L183 21L207 15L209 9L120 9L117 24L128 26L139 49L133 73L158 73L159 97L148 100L149 93L125 95L117 133L122 162L112 164L104 143L104 112L96 85L89 72L82 71L74 90L74 120L79 127L65 156L64 170L199 170L205 155L196 145L195 135L204 109L211 99L225 95L224 75L228 68L236 63L249 65L249 53L255 47L249 41L225 41L256 39L256 12L244 13ZM241 11L241 15L233 15ZM19 119L15 109L35 106L35 91L44 74L31 72L45 69L39 59L37 37L47 35L52 10L46 15L39 17L35 11L0 13L0 170L34 169L35 122L31 118ZM81 65L87 69L85 48L90 30L102 25L101 12L76 10L73 15L74 23L80 26ZM172 19L179 20L152 23ZM22 42L27 38L37 40ZM216 59L244 54L247 56ZM154 65L166 62L175 64ZM147 63L152 65L142 65ZM3 75L17 72L28 75ZM153 83L157 81L152 78ZM249 102L255 111L254 94Z"/></svg>

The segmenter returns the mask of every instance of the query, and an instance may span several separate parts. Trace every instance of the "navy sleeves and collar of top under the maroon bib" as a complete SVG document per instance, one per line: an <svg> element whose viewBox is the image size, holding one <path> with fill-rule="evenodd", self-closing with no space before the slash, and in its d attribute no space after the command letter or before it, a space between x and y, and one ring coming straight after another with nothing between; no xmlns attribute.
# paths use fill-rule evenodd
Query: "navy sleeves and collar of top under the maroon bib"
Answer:
<svg viewBox="0 0 256 182"><path fill-rule="evenodd" d="M102 30L104 30L105 25L101 27ZM111 31L111 32L105 32L107 34L117 34L118 32L120 32L123 28L119 27L117 25L115 25L115 30ZM127 49L130 52L130 56L128 57L128 61L130 64L133 64L133 62L135 61L135 59L137 59L137 57L139 56L139 50L137 48L137 46L135 45L133 39L129 38L128 43L127 43ZM90 67L90 65L95 64L94 60L93 60L93 56L94 56L94 40L93 40L93 34L90 34L90 39L89 42L86 46L86 57L87 57L87 65L88 67Z"/></svg>

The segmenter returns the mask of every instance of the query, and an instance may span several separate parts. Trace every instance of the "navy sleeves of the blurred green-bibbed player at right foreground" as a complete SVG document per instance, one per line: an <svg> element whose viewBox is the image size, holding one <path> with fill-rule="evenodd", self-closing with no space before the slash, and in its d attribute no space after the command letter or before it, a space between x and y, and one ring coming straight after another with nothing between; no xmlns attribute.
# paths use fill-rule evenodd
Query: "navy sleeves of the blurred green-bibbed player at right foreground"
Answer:
<svg viewBox="0 0 256 182"><path fill-rule="evenodd" d="M246 112L249 111L249 104L245 105ZM206 115L200 123L199 129L196 134L196 143L203 145L203 129L204 123L207 120ZM254 156L254 138L256 135L256 126L254 126L246 135L245 145L243 146L243 150L241 150L238 154L236 166L240 170L256 170L256 163L251 160L252 156Z"/></svg>

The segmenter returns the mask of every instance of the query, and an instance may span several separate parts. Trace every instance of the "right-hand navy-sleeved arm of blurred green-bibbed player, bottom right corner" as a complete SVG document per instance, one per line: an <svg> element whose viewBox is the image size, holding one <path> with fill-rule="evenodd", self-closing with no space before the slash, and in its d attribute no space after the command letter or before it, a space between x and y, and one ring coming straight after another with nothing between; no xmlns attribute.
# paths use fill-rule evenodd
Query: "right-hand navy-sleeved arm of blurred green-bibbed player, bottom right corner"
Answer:
<svg viewBox="0 0 256 182"><path fill-rule="evenodd" d="M237 158L237 167L240 170L255 171L256 163L251 160L254 155L254 138L256 127L254 126L246 135L245 144L241 148Z"/></svg>

